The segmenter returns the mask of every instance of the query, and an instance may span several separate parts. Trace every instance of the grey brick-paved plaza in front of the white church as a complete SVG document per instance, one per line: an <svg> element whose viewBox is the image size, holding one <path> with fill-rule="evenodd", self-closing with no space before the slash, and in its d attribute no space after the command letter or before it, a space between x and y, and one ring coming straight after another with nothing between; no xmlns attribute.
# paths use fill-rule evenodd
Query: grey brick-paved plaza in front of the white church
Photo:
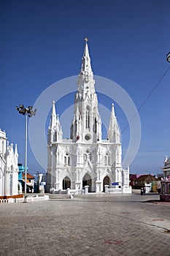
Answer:
<svg viewBox="0 0 170 256"><path fill-rule="evenodd" d="M158 199L51 195L49 201L0 204L0 255L169 256L170 206Z"/></svg>

